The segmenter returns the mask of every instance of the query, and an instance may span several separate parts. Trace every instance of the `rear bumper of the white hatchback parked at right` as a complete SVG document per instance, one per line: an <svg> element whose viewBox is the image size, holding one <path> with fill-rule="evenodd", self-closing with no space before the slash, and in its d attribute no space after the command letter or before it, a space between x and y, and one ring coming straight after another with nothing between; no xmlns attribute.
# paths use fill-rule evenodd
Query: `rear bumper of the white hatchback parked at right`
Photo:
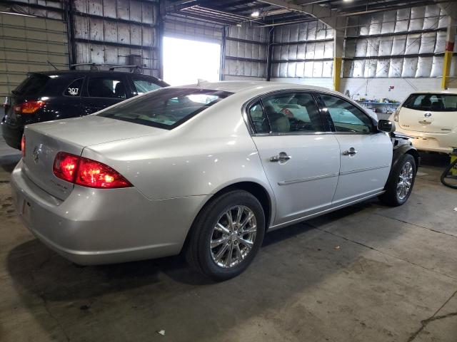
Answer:
<svg viewBox="0 0 457 342"><path fill-rule="evenodd" d="M414 147L422 151L451 153L457 148L457 132L425 133L414 130L404 130L398 127L398 132L409 135Z"/></svg>

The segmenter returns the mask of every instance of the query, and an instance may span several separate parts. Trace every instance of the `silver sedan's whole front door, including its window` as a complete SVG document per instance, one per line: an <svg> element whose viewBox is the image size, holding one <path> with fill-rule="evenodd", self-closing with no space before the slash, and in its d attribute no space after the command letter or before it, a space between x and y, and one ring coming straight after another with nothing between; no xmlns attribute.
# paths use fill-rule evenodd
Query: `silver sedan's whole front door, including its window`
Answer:
<svg viewBox="0 0 457 342"><path fill-rule="evenodd" d="M391 170L392 142L379 132L371 117L345 98L320 94L340 145L340 170L333 206L383 190Z"/></svg>

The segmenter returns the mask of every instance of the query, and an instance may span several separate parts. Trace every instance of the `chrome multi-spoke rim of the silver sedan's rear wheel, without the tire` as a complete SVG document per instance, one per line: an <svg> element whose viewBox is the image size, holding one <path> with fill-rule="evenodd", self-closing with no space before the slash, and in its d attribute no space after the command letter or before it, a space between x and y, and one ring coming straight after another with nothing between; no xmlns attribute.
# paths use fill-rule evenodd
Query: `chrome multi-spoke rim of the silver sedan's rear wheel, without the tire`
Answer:
<svg viewBox="0 0 457 342"><path fill-rule="evenodd" d="M211 234L209 248L213 261L224 268L238 265L251 252L256 233L253 211L244 205L231 207L221 214Z"/></svg>

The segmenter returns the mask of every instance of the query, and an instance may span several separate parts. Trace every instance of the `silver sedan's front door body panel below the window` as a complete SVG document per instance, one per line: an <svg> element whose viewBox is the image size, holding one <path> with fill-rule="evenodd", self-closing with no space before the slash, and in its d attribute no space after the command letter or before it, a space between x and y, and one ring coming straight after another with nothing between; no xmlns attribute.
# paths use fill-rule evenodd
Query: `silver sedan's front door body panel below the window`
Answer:
<svg viewBox="0 0 457 342"><path fill-rule="evenodd" d="M336 139L341 148L341 167L333 204L381 191L391 170L393 149L388 135L340 134Z"/></svg>

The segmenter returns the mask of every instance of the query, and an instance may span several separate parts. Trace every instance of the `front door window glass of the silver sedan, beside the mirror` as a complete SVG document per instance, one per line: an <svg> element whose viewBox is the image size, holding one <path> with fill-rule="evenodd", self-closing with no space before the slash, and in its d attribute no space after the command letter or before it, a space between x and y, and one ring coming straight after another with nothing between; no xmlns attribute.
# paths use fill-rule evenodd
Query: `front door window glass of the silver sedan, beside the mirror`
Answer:
<svg viewBox="0 0 457 342"><path fill-rule="evenodd" d="M321 94L323 110L330 115L336 132L371 133L373 122L362 110L337 96Z"/></svg>

